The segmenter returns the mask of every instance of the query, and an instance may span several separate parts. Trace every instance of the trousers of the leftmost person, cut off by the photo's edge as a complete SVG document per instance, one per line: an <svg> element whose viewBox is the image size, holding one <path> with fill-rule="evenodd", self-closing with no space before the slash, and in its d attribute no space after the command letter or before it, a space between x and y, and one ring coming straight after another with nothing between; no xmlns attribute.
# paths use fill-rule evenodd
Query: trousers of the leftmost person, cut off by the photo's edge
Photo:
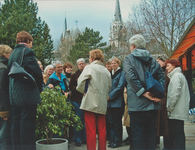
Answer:
<svg viewBox="0 0 195 150"><path fill-rule="evenodd" d="M11 149L11 118L5 121L0 117L0 150Z"/></svg>

